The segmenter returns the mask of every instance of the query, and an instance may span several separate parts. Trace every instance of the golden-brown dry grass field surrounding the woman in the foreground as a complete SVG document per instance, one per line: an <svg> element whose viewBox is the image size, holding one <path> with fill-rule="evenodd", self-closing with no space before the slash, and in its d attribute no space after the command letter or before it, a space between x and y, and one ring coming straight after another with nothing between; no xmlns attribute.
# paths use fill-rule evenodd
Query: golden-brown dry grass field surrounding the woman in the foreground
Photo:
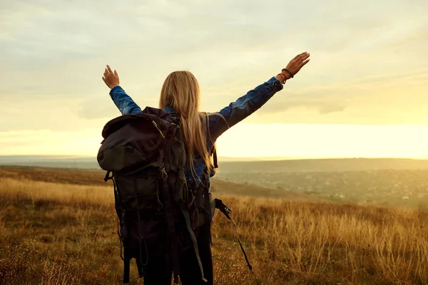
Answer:
<svg viewBox="0 0 428 285"><path fill-rule="evenodd" d="M121 283L112 186L102 178L96 170L0 168L0 284ZM213 188L233 209L254 267L248 271L232 225L217 213L215 284L428 284L422 209L280 190L265 198L260 187L220 180ZM131 284L143 284L136 276L131 266Z"/></svg>

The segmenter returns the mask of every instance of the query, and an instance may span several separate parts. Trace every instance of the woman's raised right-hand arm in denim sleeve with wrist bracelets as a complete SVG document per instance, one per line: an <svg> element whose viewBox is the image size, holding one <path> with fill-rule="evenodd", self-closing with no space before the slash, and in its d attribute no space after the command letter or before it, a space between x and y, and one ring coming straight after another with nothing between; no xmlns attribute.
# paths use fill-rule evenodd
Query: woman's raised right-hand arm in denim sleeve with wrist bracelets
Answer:
<svg viewBox="0 0 428 285"><path fill-rule="evenodd" d="M225 130L228 130L228 128L236 125L262 107L275 93L282 90L282 84L285 84L285 81L293 78L300 71L300 68L309 62L309 56L310 54L307 52L295 56L277 76L248 91L247 94L220 110L218 113L223 116L224 120L219 115L211 114L211 137L217 139Z"/></svg>

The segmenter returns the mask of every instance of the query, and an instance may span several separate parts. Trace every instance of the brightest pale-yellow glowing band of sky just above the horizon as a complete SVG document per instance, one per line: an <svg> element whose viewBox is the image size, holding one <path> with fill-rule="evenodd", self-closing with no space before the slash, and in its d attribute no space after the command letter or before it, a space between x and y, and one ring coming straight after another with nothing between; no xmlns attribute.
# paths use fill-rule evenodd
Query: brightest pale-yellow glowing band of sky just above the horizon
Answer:
<svg viewBox="0 0 428 285"><path fill-rule="evenodd" d="M0 155L95 156L101 131L0 133ZM226 157L428 157L428 126L238 124L218 139Z"/></svg>

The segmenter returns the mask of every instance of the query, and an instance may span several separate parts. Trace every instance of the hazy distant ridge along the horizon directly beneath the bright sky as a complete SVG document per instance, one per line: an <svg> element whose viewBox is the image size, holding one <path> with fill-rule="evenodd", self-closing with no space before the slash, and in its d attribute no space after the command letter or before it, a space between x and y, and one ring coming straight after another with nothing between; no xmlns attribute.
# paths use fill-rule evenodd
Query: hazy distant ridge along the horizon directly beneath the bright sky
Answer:
<svg viewBox="0 0 428 285"><path fill-rule="evenodd" d="M364 170L415 170L428 169L428 160L401 158L342 158L342 159L287 159L272 158L235 158L219 157L218 173L237 172L337 172ZM97 169L96 157L67 157L44 155L4 155L0 156L0 165L21 165L61 168Z"/></svg>

